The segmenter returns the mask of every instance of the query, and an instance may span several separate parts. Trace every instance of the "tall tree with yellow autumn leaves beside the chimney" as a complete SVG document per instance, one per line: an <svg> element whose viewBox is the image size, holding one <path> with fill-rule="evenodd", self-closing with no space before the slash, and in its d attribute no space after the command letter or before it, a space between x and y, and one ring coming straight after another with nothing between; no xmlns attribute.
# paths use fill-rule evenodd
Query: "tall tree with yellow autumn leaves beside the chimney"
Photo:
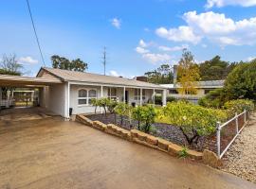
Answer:
<svg viewBox="0 0 256 189"><path fill-rule="evenodd" d="M200 79L198 65L194 62L192 53L183 50L182 58L177 66L177 81L180 84L181 94L196 94L196 82Z"/></svg>

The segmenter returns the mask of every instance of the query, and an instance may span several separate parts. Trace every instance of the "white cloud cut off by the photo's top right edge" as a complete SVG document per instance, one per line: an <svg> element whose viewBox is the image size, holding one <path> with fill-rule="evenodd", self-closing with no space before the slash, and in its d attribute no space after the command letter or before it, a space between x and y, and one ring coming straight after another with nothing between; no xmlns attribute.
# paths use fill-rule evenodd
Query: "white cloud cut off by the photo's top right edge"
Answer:
<svg viewBox="0 0 256 189"><path fill-rule="evenodd" d="M252 7L256 6L256 0L208 0L206 8L221 8L225 6Z"/></svg>

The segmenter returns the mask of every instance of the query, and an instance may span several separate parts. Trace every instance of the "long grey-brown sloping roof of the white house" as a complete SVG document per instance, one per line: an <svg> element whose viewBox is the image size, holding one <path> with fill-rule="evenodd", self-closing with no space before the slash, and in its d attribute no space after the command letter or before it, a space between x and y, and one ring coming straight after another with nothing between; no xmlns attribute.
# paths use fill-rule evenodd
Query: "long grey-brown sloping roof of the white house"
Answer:
<svg viewBox="0 0 256 189"><path fill-rule="evenodd" d="M104 76L100 74L91 74L91 73L84 73L84 72L75 72L75 71L68 71L62 69L55 69L55 68L41 68L38 73L45 70L49 74L59 77L64 81L77 81L77 82L88 82L88 83L98 83L98 84L110 84L110 85L121 85L121 86L132 86L132 87L142 87L142 88L155 88L155 89L164 89L164 87L148 82L138 81L136 79L129 79L123 77L111 77L111 76Z"/></svg>

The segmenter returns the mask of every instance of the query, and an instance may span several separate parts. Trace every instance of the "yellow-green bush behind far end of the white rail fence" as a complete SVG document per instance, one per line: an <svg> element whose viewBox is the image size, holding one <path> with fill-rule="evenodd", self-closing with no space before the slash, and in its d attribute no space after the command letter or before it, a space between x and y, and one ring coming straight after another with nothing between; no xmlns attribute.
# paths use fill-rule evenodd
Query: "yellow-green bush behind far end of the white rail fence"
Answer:
<svg viewBox="0 0 256 189"><path fill-rule="evenodd" d="M236 112L253 111L254 104L251 100L247 99L230 100L224 104L224 108L228 110L229 117L232 117Z"/></svg>

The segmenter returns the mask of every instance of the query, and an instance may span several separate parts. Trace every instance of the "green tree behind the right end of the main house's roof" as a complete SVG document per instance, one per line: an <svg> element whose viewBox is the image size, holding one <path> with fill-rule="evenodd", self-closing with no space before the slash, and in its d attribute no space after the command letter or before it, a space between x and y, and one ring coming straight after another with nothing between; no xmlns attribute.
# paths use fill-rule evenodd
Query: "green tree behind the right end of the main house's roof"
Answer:
<svg viewBox="0 0 256 189"><path fill-rule="evenodd" d="M174 82L174 74L170 64L165 63L160 65L157 69L144 74L148 77L148 81L157 84L168 84Z"/></svg>

